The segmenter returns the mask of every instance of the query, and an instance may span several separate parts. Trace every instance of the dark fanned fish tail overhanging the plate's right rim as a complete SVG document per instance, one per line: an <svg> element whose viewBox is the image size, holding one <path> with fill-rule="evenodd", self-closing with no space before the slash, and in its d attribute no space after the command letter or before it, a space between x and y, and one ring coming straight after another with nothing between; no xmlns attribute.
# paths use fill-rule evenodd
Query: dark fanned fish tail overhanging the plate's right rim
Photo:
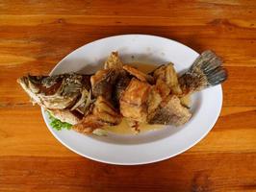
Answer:
<svg viewBox="0 0 256 192"><path fill-rule="evenodd" d="M203 52L192 67L179 78L184 94L200 91L209 86L223 83L227 79L227 71L222 60L213 51Z"/></svg>

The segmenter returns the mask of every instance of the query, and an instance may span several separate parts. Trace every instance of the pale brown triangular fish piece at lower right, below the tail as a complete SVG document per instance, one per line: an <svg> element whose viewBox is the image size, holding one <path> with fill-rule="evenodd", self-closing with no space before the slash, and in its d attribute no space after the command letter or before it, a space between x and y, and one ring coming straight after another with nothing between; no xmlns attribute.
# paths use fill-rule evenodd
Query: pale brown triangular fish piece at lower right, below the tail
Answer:
<svg viewBox="0 0 256 192"><path fill-rule="evenodd" d="M184 108L176 95L169 95L159 107L147 116L149 124L181 126L192 117L188 108Z"/></svg>

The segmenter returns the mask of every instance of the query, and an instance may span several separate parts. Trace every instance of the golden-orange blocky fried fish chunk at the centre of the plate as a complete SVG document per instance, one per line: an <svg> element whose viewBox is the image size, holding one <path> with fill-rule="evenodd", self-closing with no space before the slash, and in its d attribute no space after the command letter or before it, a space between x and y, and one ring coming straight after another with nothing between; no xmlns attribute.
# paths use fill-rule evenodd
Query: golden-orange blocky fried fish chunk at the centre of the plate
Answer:
<svg viewBox="0 0 256 192"><path fill-rule="evenodd" d="M132 120L145 122L150 90L150 84L133 78L120 98L121 114Z"/></svg>

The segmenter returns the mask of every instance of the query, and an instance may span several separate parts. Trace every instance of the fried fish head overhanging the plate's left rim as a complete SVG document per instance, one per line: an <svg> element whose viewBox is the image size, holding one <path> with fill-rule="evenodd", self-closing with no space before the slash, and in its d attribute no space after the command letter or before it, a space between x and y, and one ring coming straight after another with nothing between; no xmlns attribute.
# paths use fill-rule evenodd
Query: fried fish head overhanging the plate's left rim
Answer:
<svg viewBox="0 0 256 192"><path fill-rule="evenodd" d="M74 105L85 89L79 74L24 76L17 80L34 103L43 108L68 108Z"/></svg>

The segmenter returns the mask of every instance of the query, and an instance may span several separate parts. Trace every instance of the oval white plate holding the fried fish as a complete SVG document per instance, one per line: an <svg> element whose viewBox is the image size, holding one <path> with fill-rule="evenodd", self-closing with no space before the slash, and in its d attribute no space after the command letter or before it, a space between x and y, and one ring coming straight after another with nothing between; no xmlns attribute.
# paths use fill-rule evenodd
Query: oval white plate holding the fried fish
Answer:
<svg viewBox="0 0 256 192"><path fill-rule="evenodd" d="M61 60L51 75L64 72L90 74L101 68L112 51L124 62L151 62L160 65L171 61L178 72L189 68L198 54L191 48L160 36L111 36L93 41ZM55 131L42 109L50 132L71 151L90 159L122 165L145 164L177 156L191 148L215 125L222 104L221 85L205 89L192 98L192 119L183 127L139 135L83 135L73 131Z"/></svg>

